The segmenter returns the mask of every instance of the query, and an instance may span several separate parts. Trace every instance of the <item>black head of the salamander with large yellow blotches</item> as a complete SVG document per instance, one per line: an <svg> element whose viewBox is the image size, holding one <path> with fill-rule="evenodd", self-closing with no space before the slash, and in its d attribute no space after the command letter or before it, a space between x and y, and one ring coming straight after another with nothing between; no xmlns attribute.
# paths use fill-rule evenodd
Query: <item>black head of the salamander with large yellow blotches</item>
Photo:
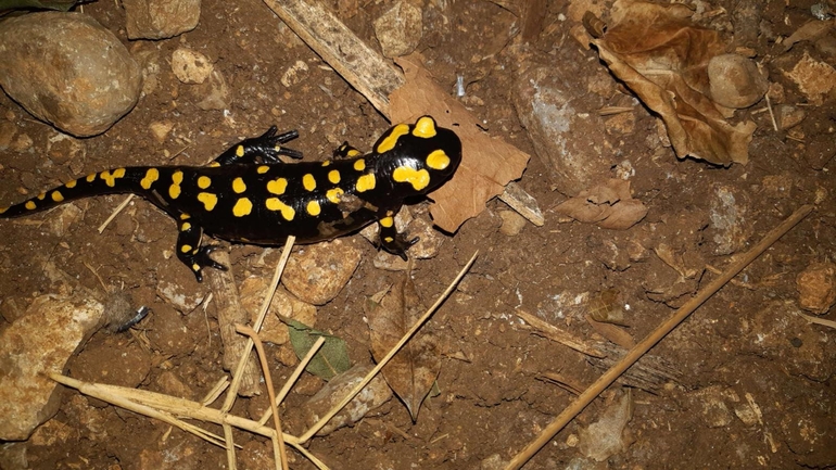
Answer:
<svg viewBox="0 0 836 470"><path fill-rule="evenodd" d="M391 180L395 194L427 194L444 183L461 162L461 141L430 116L398 124L378 139L378 178Z"/></svg>

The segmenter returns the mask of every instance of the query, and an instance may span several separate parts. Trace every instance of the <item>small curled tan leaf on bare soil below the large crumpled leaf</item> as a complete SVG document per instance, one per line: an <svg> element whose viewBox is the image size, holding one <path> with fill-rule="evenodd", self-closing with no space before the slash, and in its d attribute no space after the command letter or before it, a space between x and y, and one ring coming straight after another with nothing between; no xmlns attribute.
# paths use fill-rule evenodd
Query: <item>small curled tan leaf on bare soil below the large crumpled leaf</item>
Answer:
<svg viewBox="0 0 836 470"><path fill-rule="evenodd" d="M647 215L647 207L630 193L630 181L610 179L581 191L557 206L557 212L600 228L626 230Z"/></svg>

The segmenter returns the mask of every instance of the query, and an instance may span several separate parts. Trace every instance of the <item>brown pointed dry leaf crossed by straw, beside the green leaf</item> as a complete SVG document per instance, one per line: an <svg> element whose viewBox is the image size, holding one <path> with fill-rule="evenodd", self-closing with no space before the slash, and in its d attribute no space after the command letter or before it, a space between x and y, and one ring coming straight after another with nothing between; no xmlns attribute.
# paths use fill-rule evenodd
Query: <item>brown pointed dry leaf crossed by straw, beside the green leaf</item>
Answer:
<svg viewBox="0 0 836 470"><path fill-rule="evenodd" d="M375 360L382 359L422 314L423 307L408 271L388 293L383 293L379 303L369 300L366 316L369 320L371 354ZM382 372L387 383L404 402L415 421L421 403L430 393L440 370L441 355L435 336L420 333L404 345Z"/></svg>

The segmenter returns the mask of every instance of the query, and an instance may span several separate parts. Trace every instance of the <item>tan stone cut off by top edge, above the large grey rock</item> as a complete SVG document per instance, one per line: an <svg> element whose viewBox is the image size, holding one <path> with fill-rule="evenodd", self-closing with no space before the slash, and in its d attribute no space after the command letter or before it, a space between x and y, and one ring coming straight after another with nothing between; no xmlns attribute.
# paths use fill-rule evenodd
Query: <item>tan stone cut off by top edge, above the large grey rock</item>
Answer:
<svg viewBox="0 0 836 470"><path fill-rule="evenodd" d="M198 26L201 0L124 0L130 39L167 39Z"/></svg>

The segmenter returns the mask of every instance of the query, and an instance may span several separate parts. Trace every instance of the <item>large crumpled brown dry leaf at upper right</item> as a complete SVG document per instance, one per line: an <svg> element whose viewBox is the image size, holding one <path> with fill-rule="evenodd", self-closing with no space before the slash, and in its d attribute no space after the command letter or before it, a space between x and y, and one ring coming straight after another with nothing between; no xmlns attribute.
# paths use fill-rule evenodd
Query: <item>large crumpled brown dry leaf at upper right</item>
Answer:
<svg viewBox="0 0 836 470"><path fill-rule="evenodd" d="M593 43L612 74L662 117L676 155L745 164L755 123L732 126L709 98L708 62L725 53L725 42L689 15L682 4L619 0Z"/></svg>

